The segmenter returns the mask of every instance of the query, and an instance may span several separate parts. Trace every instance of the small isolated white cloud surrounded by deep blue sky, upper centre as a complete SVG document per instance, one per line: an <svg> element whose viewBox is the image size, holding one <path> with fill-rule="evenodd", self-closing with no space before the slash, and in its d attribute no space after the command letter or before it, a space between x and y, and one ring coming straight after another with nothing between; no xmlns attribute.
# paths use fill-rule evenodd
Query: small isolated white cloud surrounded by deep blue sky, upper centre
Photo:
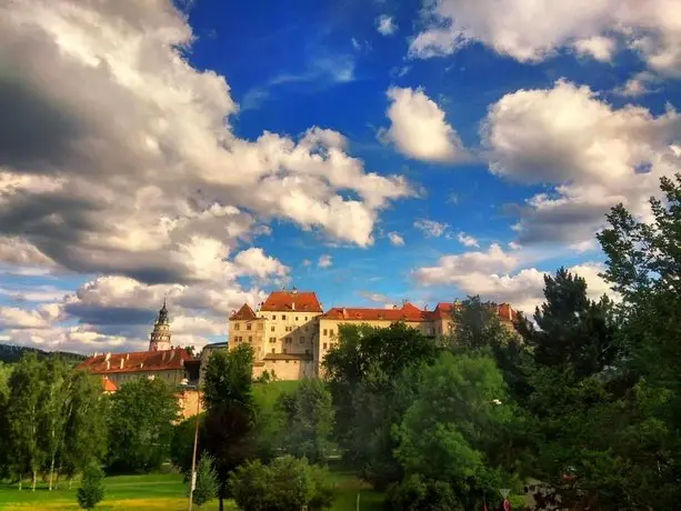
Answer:
<svg viewBox="0 0 681 511"><path fill-rule="evenodd" d="M433 162L457 162L469 156L444 112L422 89L388 89L391 104L385 114L391 126L379 138L394 143L410 158Z"/></svg>

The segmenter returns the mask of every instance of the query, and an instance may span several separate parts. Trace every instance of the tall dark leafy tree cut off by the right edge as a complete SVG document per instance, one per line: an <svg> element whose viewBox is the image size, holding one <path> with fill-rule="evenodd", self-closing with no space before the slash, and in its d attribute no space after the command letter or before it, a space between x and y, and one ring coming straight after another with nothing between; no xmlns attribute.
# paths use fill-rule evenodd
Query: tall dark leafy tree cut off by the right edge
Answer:
<svg viewBox="0 0 681 511"><path fill-rule="evenodd" d="M622 405L630 421L618 452L638 473L654 475L654 484L628 479L625 494L642 502L654 485L655 507L672 509L681 500L681 173L662 178L660 188L663 199L650 200L650 223L619 204L598 238L608 257L604 277L622 297L625 358L619 367L634 383Z"/></svg>

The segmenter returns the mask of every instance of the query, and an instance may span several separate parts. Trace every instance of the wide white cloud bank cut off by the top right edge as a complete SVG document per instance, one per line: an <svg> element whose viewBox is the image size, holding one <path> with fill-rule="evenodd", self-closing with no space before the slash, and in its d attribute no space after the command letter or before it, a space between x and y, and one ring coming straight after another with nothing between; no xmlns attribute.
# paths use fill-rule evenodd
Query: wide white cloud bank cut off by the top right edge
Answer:
<svg viewBox="0 0 681 511"><path fill-rule="evenodd" d="M410 56L451 54L478 41L521 62L573 47L609 60L617 47L639 52L648 66L681 74L681 24L675 0L424 0L425 29ZM615 44L617 41L617 44Z"/></svg>

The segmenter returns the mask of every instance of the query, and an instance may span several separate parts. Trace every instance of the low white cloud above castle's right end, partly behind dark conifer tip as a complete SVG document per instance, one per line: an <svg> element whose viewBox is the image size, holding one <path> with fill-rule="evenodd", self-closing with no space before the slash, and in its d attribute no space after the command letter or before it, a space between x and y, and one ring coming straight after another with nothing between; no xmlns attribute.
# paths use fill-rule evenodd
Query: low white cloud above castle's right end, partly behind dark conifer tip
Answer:
<svg viewBox="0 0 681 511"><path fill-rule="evenodd" d="M455 287L465 294L479 294L485 300L509 302L518 310L531 314L543 302L544 275L537 268L522 268L522 258L504 252L498 244L490 246L487 252L475 251L444 255L435 265L421 267L413 271L419 285ZM610 291L608 283L599 277L603 264L584 262L571 267L569 271L587 280L588 293L598 299Z"/></svg>

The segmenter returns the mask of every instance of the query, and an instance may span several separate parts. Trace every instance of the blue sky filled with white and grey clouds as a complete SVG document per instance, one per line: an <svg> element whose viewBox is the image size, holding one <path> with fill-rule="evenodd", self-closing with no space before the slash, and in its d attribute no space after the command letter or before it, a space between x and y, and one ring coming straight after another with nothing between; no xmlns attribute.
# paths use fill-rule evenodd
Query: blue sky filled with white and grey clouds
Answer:
<svg viewBox="0 0 681 511"><path fill-rule="evenodd" d="M296 285L323 308L559 267L681 171L679 0L0 4L0 342L143 350Z"/></svg>

